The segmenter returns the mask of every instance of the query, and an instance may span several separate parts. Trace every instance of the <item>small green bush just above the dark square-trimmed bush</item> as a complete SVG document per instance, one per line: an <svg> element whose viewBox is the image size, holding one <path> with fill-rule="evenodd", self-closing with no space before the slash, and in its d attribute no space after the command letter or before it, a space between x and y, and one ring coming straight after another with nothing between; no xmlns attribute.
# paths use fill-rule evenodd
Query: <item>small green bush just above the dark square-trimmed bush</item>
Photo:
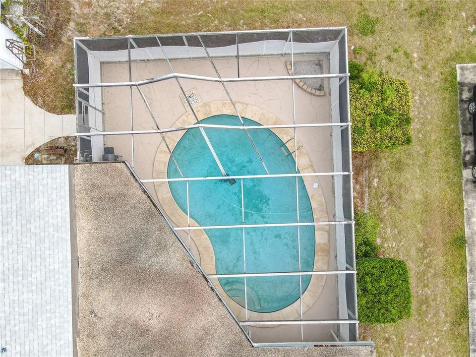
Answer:
<svg viewBox="0 0 476 357"><path fill-rule="evenodd" d="M356 258L374 257L378 252L377 219L370 212L355 212L356 220Z"/></svg>

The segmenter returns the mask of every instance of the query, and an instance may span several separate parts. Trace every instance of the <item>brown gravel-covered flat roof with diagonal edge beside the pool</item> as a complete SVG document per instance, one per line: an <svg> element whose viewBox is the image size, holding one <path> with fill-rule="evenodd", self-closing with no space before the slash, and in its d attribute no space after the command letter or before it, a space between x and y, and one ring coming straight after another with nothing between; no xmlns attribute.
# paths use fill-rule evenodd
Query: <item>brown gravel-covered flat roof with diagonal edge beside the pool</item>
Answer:
<svg viewBox="0 0 476 357"><path fill-rule="evenodd" d="M123 163L74 171L79 357L375 356L369 346L252 348Z"/></svg>

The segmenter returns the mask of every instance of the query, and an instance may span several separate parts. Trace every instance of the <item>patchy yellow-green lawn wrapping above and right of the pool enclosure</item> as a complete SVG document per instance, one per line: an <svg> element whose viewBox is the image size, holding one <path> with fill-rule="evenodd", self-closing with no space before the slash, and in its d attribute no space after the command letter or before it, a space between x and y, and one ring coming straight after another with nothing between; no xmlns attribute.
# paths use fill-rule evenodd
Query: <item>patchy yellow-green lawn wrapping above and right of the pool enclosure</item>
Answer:
<svg viewBox="0 0 476 357"><path fill-rule="evenodd" d="M476 31L470 30L476 24L474 2L141 2L72 2L61 44L38 54L49 64L37 77L36 88L43 91L36 94L38 101L51 102L48 109L72 110L72 77L64 69L72 66L70 40L77 33L349 26L349 46L364 49L358 58L349 51L350 57L405 79L413 96L412 144L359 154L363 159L354 161L359 173L368 171L369 205L382 225L383 253L408 264L413 313L396 324L361 325L361 338L375 341L379 357L468 356L465 252L453 244L464 232L455 64L476 61ZM379 19L372 36L362 34L361 14ZM50 78L54 88L40 85L53 84ZM358 181L357 205L365 202L364 185Z"/></svg>

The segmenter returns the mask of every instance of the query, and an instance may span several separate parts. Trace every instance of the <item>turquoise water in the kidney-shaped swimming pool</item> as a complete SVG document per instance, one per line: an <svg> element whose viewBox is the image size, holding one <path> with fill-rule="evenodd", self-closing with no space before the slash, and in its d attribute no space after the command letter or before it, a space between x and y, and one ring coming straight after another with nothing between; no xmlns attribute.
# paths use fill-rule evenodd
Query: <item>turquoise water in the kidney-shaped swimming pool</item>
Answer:
<svg viewBox="0 0 476 357"><path fill-rule="evenodd" d="M245 125L260 125L243 118ZM202 123L241 125L239 118L218 115ZM286 156L283 142L269 129L248 130L270 174L295 172L295 160ZM265 175L259 158L244 130L206 128L225 172L230 175ZM289 151L287 151L289 154ZM173 154L185 177L221 176L210 150L198 128L187 130ZM168 177L179 178L172 159ZM187 213L186 183L169 182L172 195L180 209ZM301 178L243 179L244 223L297 222L296 194L299 194L299 221L312 222L309 196ZM242 224L241 181L231 185L228 180L200 180L189 183L190 217L201 226ZM298 271L297 227L259 227L244 229L205 230L215 253L217 274ZM301 269L314 266L315 236L313 226L299 228ZM310 276L302 276L302 291ZM220 285L244 307L244 278L220 278ZM257 312L280 310L299 298L299 277L246 278L248 309Z"/></svg>

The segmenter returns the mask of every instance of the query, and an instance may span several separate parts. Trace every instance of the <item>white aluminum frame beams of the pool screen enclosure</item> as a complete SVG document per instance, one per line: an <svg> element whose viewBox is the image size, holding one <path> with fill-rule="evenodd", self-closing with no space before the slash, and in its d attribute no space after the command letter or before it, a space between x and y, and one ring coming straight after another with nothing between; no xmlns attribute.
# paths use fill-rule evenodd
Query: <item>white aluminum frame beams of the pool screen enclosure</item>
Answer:
<svg viewBox="0 0 476 357"><path fill-rule="evenodd" d="M239 76L239 42L238 38L240 35L263 35L263 34L275 34L275 33L284 33L284 32L289 32L289 39L291 44L291 64L293 67L292 72L294 73L294 51L293 51L293 33L299 33L299 32L310 32L310 33L317 33L318 35L316 36L323 36L325 38L328 34L326 32L337 32L339 35L335 38L334 41L336 41L336 46L339 46L339 51L343 52L345 54L344 58L340 58L340 63L339 63L339 73L330 73L330 74L304 74L304 75L288 75L288 76L264 76L264 77L240 77ZM136 42L140 39L150 39L152 37L156 37L158 44L156 47L160 48L162 52L164 53L166 59L167 55L165 54L165 51L163 49L163 45L159 41L160 38L172 38L172 37L182 37L184 39L185 46L188 46L186 43L185 37L187 36L197 36L197 38L200 40L200 42L203 45L203 48L205 49L206 52L206 58L211 61L213 64L212 56L209 55L207 48L205 44L201 40L201 36L223 36L223 35L235 35L237 38L236 42L236 47L237 47L237 54L236 54L236 59L237 59L237 64L238 64L238 77L232 77L232 78L222 78L220 74L217 71L217 77L208 77L208 76L199 76L199 75L191 75L191 74L185 74L185 73L178 73L174 72L173 68L172 73L150 78L150 79L145 79L145 80L139 80L139 81L132 81L131 77L131 61L134 61L131 59L131 49L133 48L138 48ZM301 35L299 35L301 36ZM331 36L329 34L329 36ZM302 37L302 36L301 36ZM129 81L128 82L114 82L114 83L83 83L83 81L78 80L79 75L78 75L78 51L84 51L86 54L89 52L89 49L87 47L87 41L95 41L95 40L101 40L101 41L114 41L118 40L121 42L122 47L124 45L124 41L127 43L127 62L128 62L128 68L129 68ZM286 42L286 45L288 43ZM86 42L86 45L84 44ZM120 47L120 50L116 51L123 51L123 49ZM241 55L242 56L242 55ZM266 56L266 55L261 55L261 56ZM215 57L214 57L215 58ZM168 61L168 59L167 59ZM205 177L205 178L192 178L192 177L181 177L178 179L150 179L150 178L138 178L133 171L134 168L134 135L140 135L140 134L160 134L163 137L163 133L167 132L173 132L173 131L186 131L188 129L192 128L200 128L200 130L203 130L203 128L216 128L216 129L237 129L237 130L247 130L249 129L269 129L269 128L292 128L296 137L296 129L300 127L341 127L342 128L347 128L348 131L348 143L346 145L348 146L348 153L349 157L347 158L349 162L349 168L350 170L348 171L336 171L336 172L316 172L316 173L299 173L298 168L297 168L297 154L298 154L298 148L297 148L297 143L295 141L295 161L296 161L296 172L293 174L289 173L283 173L283 174L274 174L274 175L241 175L241 176L230 176L227 178L233 178L233 179L240 179L241 180L241 185L242 185L242 180L243 179L253 179L253 178L265 178L265 177L295 177L296 179L296 185L297 185L297 179L299 177L304 177L304 176L340 176L340 177L347 177L350 180L350 197L348 199L350 200L350 207L348 209L350 210L350 215L349 219L343 219L343 220L335 220L335 221L327 221L327 222L299 222L299 214L297 213L297 222L296 223L277 223L277 224L255 224L255 225L245 225L244 223L241 225L228 225L228 226L193 226L191 227L190 225L186 227L178 227L174 226L172 222L168 219L167 215L163 211L163 208L154 202L156 207L159 209L159 211L162 213L164 218L166 219L168 225L172 228L174 231L176 237L179 239L180 243L184 247L184 249L187 251L187 253L190 255L192 261L194 264L197 266L197 268L200 270L200 272L205 276L205 278L208 280L209 285L215 290L218 296L220 294L218 291L215 289L213 286L213 283L211 282L211 278L224 278L224 277L252 277L252 276L286 276L286 275L296 275L299 277L299 285L300 285L300 279L302 275L336 275L336 276L346 276L348 274L353 276L354 280L354 287L356 287L356 265L355 265L355 238L354 238L354 209L353 209L353 197L352 197L352 155L351 155L351 137L350 137L350 111L349 111L349 73L348 73L348 57L347 57L347 28L346 27L334 27L334 28L308 28L308 29L284 29L284 30L253 30L253 31L229 31L229 32L209 32L209 33L183 33L183 34L167 34L167 35L141 35L141 36L126 36L126 37L103 37L103 38L86 38L86 37L80 37L80 38L75 38L74 39L74 63L75 63L75 93L76 93L76 99L77 99L77 106L76 106L76 115L78 118L78 132L75 134L78 137L78 160L79 160L79 155L81 154L81 146L80 146L80 138L86 138L86 140L89 137L89 140L92 139L92 137L106 137L108 135L130 135L131 137L131 152L132 152L132 159L131 163L127 163L128 167L130 168L131 172L134 174L136 179L140 182L142 188L147 192L147 189L144 185L144 183L149 183L149 182L169 182L169 181L186 181L187 184L187 218L188 222L190 222L190 212L188 209L188 182L193 181L193 180L211 180L211 179L223 179L223 177ZM214 66L214 65L213 65ZM216 68L215 68L216 69ZM173 128L162 128L160 129L159 126L157 125L158 129L157 130L134 130L134 120L133 120L133 110L132 110L132 89L133 87L136 87L137 90L140 92L140 86L145 85L145 84L150 84L150 83L155 83L155 82L160 82L164 80L169 80L169 79L175 79L179 82L179 79L195 79L195 80L200 80L200 81L208 81L208 82L218 82L221 83L223 86L225 86L225 83L228 82L244 82L244 81L265 81L265 80L283 80L283 81L291 81L292 83L292 93L293 93L293 124L286 124L286 125L261 125L261 126L245 126L244 124L242 126L233 126L233 125L211 125L211 124L202 124L202 123L197 123L195 125L188 125L188 126L182 126L182 127L173 127ZM346 120L340 122L329 122L329 123L312 123L312 124L298 124L296 122L296 100L294 98L294 92L295 92L295 87L296 79L310 79L310 78L329 78L329 80L332 79L339 79L339 96L341 93L341 85L345 85L346 87L346 97L345 100L347 101L346 103ZM99 116L103 122L104 122L104 108L98 108L99 106L96 103L91 104L90 103L90 96L91 92L94 91L94 88L106 88L106 87L128 87L130 91L130 119L131 119L131 127L132 130L129 131L99 131L94 127L89 126L89 121L88 124L85 125L84 118L85 114L89 116L90 112L94 112L95 116ZM225 87L226 88L226 87ZM87 90L86 90L87 89ZM183 90L182 90L183 92ZM184 92L183 92L184 93ZM147 101L142 96L142 99L144 100L145 104L147 105ZM185 99L188 102L187 97L185 96ZM232 98L229 97L230 102L235 106L235 103L233 102ZM189 103L190 104L190 103ZM148 106L148 105L147 105ZM190 105L191 111L194 113L192 106ZM235 107L236 109L236 107ZM149 111L149 114L151 117L153 117L152 112ZM238 110L237 110L237 115L239 116ZM341 115L342 116L342 115ZM82 122L81 122L82 119ZM153 118L152 118L153 119ZM155 121L155 119L154 119ZM102 126L104 128L104 125ZM92 131L94 130L94 131ZM251 139L251 137L250 137ZM163 137L163 140L165 141L165 137ZM213 151L213 148L210 147L210 150ZM172 152L171 152L172 155ZM259 156L259 153L258 153ZM179 168L177 162L176 162L177 168ZM264 164L263 164L264 165ZM148 192L147 192L148 193ZM241 190L241 194L243 194L243 190ZM149 194L150 196L150 194ZM150 196L152 199L152 196ZM298 201L298 195L297 195L297 212L299 210L299 201ZM153 200L153 199L152 199ZM343 229L344 226L351 226L351 232L352 232L352 263L348 264L348 267L346 267L345 270L329 270L329 271L302 271L300 267L300 258L298 259L299 261L299 269L298 271L294 272L271 272L271 273L244 273L244 274L209 274L207 275L203 269L200 267L200 264L197 262L195 257L190 251L190 247L187 246L187 244L183 241L183 239L180 237L178 234L178 231L190 231L194 229L220 229L220 228L246 228L246 227L280 227L280 226L296 226L297 227L297 236L299 240L299 227L300 226L306 226L306 225L342 225ZM244 236L243 236L244 239ZM299 256L300 256L300 248L298 249ZM246 291L246 279L245 279L245 291ZM302 297L302 288L300 288L300 298ZM246 294L245 294L246 295ZM354 298L355 298L355 304L357 304L357 293L354 291ZM225 304L227 307L228 311L232 315L232 317L235 319L235 321L238 323L242 331L245 333L246 337L250 341L250 343L255 346L255 347L282 347L282 346L316 346L316 345L337 345L337 346L349 346L349 345L365 345L368 346L368 342L359 342L358 341L358 318L357 318L357 305L354 306L354 312L352 313L349 311L349 315L353 315L351 317L353 318L346 318L346 319L337 319L337 320L309 320L309 319L303 319L302 317L302 306L300 307L300 319L299 320L273 320L273 321L239 321L236 316L232 313L231 309L225 302L225 300L221 297L222 302ZM245 307L247 311L247 307ZM247 325L288 325L288 324L297 324L300 325L301 328L301 342L296 343L296 342L286 342L286 343L255 343L252 341L251 337L248 335L247 331L243 328L243 326ZM356 341L317 341L317 342L304 342L302 338L302 328L303 325L318 325L318 324L353 324L355 325L355 339Z"/></svg>

